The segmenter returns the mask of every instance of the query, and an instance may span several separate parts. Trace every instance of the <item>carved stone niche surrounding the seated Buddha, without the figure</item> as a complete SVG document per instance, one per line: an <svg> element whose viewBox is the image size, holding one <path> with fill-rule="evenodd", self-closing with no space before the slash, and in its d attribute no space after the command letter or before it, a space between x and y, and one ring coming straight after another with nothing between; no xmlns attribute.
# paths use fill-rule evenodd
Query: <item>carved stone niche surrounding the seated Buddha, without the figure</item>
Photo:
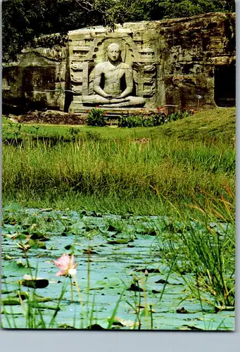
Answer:
<svg viewBox="0 0 240 352"><path fill-rule="evenodd" d="M156 62L153 49L142 48L144 42L139 33L134 35L127 30L109 34L101 29L94 33L91 30L90 34L85 32L84 36L75 36L73 39L70 44L70 88L73 93L71 112L84 112L89 106L96 105L103 106L105 110L122 109L122 112L129 107L147 106L148 99L156 90ZM116 103L116 99L101 103L102 99L98 100L98 97L102 97L94 92L94 68L99 63L105 65L108 61L108 46L113 43L120 46L120 61L125 63L122 65L123 70L127 67L133 70L134 89L120 103ZM102 89L104 90L104 81Z"/></svg>

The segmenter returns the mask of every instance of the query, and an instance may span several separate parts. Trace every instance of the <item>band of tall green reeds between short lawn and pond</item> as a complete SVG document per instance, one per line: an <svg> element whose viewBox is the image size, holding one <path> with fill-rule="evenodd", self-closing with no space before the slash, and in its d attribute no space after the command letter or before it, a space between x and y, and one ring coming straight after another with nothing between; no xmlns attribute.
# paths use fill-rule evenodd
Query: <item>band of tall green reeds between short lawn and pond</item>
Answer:
<svg viewBox="0 0 240 352"><path fill-rule="evenodd" d="M3 146L4 199L50 199L54 204L68 195L122 199L168 198L188 203L198 188L222 194L224 180L234 191L235 153L225 143L158 139L141 144L130 138L77 139L66 144L24 139Z"/></svg>

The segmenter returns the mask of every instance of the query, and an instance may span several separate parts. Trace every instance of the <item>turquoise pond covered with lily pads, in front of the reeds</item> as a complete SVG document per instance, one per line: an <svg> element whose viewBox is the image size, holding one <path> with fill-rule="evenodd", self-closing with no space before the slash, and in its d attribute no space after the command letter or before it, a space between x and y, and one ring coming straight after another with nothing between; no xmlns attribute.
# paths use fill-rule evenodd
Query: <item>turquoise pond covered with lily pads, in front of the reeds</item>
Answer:
<svg viewBox="0 0 240 352"><path fill-rule="evenodd" d="M163 217L6 207L2 327L233 330L234 310L216 311L191 296L191 273L174 272L163 258L167 223ZM76 280L56 276L53 260L63 253L74 253ZM26 287L24 275L46 284Z"/></svg>

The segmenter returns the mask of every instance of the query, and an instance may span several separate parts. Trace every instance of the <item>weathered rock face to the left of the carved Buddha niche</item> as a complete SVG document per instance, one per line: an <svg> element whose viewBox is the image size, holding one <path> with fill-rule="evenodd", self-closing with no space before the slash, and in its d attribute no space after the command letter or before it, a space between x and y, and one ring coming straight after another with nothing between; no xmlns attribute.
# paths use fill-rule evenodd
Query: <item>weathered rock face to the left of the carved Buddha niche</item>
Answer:
<svg viewBox="0 0 240 352"><path fill-rule="evenodd" d="M27 109L63 110L68 89L68 49L25 49L19 61L4 65L3 103Z"/></svg>

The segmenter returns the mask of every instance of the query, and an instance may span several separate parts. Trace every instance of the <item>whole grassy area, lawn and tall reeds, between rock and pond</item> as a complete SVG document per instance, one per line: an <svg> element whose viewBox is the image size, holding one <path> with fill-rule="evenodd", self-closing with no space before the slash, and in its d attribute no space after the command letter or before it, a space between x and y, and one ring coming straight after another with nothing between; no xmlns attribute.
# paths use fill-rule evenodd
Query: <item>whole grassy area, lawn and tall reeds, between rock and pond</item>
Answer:
<svg viewBox="0 0 240 352"><path fill-rule="evenodd" d="M146 215L206 206L203 191L220 197L222 182L234 193L234 116L218 108L135 129L4 120L3 202Z"/></svg>

